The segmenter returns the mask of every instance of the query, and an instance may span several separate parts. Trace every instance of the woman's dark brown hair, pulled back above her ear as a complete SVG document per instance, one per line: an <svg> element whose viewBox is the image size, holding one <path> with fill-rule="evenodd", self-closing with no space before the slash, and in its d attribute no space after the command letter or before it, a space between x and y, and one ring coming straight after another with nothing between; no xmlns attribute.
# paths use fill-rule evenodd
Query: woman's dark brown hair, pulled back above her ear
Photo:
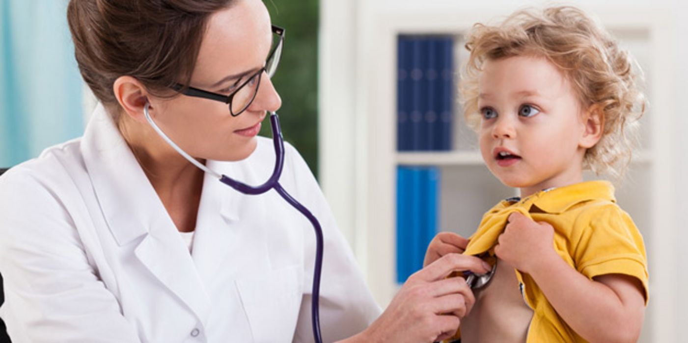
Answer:
<svg viewBox="0 0 688 343"><path fill-rule="evenodd" d="M67 21L85 82L111 113L113 84L130 75L152 94L189 84L208 16L235 0L70 0Z"/></svg>

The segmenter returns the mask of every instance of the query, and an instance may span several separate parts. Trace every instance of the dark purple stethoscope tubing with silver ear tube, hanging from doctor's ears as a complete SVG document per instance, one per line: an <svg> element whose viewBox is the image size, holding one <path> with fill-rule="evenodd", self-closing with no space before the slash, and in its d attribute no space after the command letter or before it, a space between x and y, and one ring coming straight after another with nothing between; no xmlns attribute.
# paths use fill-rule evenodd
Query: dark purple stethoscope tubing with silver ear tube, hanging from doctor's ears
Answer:
<svg viewBox="0 0 688 343"><path fill-rule="evenodd" d="M279 195L282 196L282 198L284 198L286 202L294 206L294 209L297 209L299 212L301 212L301 214L305 215L305 217L308 218L310 224L312 224L313 228L315 229L316 237L315 268L313 271L313 288L310 309L311 320L313 325L313 338L315 339L316 343L323 342L320 333L319 313L320 276L321 270L323 268L323 230L316 217L312 213L310 213L310 211L308 211L308 209L306 209L305 206L303 206L296 199L290 196L290 194L287 193L287 191L284 190L282 186L279 184L279 176L282 174L282 167L284 165L284 141L282 138L282 130L279 126L279 117L277 117L277 113L273 112L270 115L270 126L272 126L272 144L275 145L275 169L272 171L272 176L270 176L270 178L263 185L254 187L234 180L233 178L230 178L229 176L226 176L224 174L219 174L216 171L213 171L212 169L206 167L202 163L199 163L198 161L196 161L195 158L189 156L189 154L186 154L186 152L184 152L182 148L180 148L171 139L169 139L169 137L167 137L167 135L164 132L162 132L162 130L160 130L158 125L155 124L155 122L151 118L151 115L149 114L149 107L150 104L146 103L146 106L144 106L143 108L143 113L146 116L148 122L155 130L155 132L158 132L160 137L162 137L162 139L164 139L171 147L173 147L174 150L177 150L177 152L184 156L184 158L186 158L187 161L193 163L193 165L199 167L206 173L215 176L220 180L220 182L224 183L225 185L228 185L233 189L236 189L237 191L240 191L244 194L258 195L265 193L266 191L270 191L270 189L275 189L275 191L277 191L277 193L279 193Z"/></svg>

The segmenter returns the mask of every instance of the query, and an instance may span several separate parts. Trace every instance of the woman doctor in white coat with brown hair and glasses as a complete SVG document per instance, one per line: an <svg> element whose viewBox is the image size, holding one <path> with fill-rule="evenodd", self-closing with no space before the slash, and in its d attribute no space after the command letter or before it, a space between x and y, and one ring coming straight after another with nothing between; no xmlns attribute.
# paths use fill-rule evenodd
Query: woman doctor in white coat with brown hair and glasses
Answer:
<svg viewBox="0 0 688 343"><path fill-rule="evenodd" d="M211 169L264 182L274 152L257 133L281 105L268 69L283 33L271 31L264 4L72 0L67 15L80 71L100 104L83 137L0 178L0 316L12 340L312 341L310 223L275 191L245 196L204 174L144 118L149 106L158 126ZM325 342L453 334L473 295L444 276L486 272L479 259L438 259L380 314L290 145L281 184L323 226Z"/></svg>

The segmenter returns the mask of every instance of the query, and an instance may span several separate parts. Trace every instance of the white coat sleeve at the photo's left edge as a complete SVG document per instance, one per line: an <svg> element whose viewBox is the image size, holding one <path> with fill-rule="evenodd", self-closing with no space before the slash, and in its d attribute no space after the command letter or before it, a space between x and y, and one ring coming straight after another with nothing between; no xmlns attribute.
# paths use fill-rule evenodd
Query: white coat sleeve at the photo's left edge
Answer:
<svg viewBox="0 0 688 343"><path fill-rule="evenodd" d="M21 165L0 178L0 195L0 315L12 341L140 342L60 198Z"/></svg>

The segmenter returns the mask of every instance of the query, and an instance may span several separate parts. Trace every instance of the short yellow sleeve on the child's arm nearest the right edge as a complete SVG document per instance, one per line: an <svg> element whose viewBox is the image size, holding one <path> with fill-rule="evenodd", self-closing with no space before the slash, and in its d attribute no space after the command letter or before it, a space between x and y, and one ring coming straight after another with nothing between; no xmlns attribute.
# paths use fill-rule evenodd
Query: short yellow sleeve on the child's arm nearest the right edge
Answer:
<svg viewBox="0 0 688 343"><path fill-rule="evenodd" d="M590 211L583 222L574 252L577 270L590 279L605 274L632 276L643 284L647 304L645 244L630 215L616 204L607 204Z"/></svg>

